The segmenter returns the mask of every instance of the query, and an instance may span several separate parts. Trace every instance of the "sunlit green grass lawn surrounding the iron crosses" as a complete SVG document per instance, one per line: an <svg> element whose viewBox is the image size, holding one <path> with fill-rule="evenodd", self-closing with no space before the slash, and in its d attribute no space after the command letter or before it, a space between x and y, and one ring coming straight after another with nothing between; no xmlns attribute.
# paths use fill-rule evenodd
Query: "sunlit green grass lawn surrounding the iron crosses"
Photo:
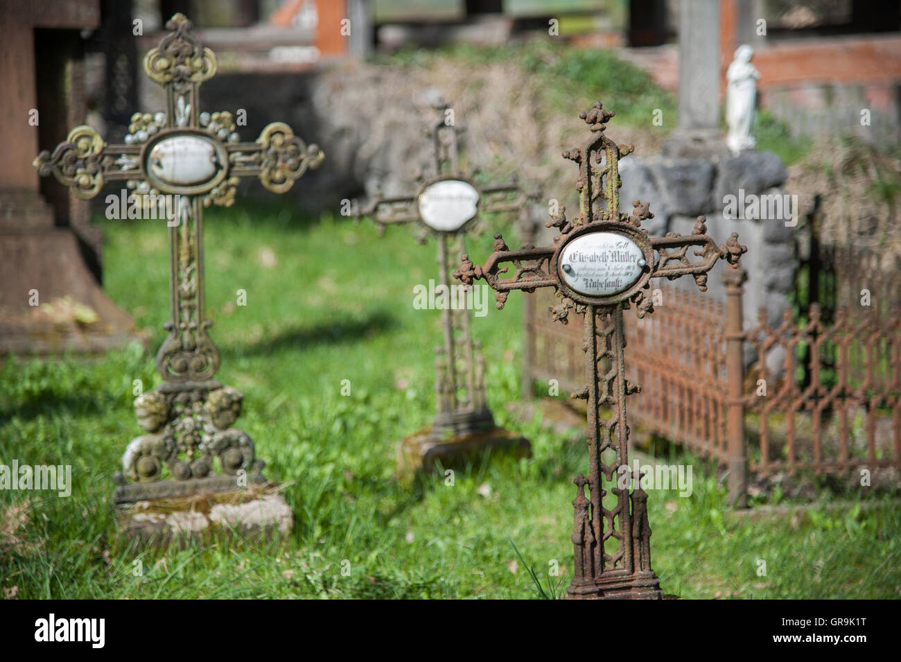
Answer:
<svg viewBox="0 0 901 662"><path fill-rule="evenodd" d="M287 205L211 210L206 220L218 378L245 395L238 426L268 477L288 485L294 532L256 546L222 537L204 548L132 549L115 534L111 476L140 431L133 380L145 389L159 381L152 355L135 345L94 359L8 360L0 463L70 464L74 488L69 498L0 492L0 513L31 503L20 544L0 549L0 587L18 587L20 598L560 596L572 576L571 480L587 459L581 444L506 413L519 397L523 294L504 311L490 307L475 328L490 404L532 440L534 457L460 471L452 486L440 474L407 485L395 477L394 442L433 414L439 314L412 305L414 284L434 277L433 242L419 245L403 228L379 239L366 223L293 218ZM156 345L168 315L166 232L157 222L102 224L105 287L154 330ZM483 259L490 242L473 240L469 251ZM264 249L274 268L261 263ZM233 305L239 289L246 306ZM901 522L889 503L845 518L815 510L795 521L734 519L724 490L696 464L690 498L651 493L650 507L653 563L668 593L901 592ZM759 558L767 576L756 574Z"/></svg>

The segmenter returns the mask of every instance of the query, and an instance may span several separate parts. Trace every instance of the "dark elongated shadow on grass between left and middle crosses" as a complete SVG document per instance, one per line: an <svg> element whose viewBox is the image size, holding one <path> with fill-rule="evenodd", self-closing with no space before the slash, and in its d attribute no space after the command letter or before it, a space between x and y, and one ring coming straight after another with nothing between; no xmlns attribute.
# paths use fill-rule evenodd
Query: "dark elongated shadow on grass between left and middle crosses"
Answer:
<svg viewBox="0 0 901 662"><path fill-rule="evenodd" d="M255 343L229 344L221 349L224 356L265 356L283 349L305 349L316 345L337 345L358 342L360 338L372 337L391 331L396 320L387 313L378 311L362 320L336 320L316 324L312 327L295 326L280 331L267 340Z"/></svg>

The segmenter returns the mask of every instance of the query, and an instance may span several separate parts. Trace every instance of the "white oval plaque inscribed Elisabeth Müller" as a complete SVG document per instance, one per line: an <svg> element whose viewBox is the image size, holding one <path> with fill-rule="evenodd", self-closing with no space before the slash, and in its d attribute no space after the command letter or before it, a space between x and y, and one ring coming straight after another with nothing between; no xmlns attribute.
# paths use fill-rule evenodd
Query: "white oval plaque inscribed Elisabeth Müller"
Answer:
<svg viewBox="0 0 901 662"><path fill-rule="evenodd" d="M580 295L615 295L633 286L644 267L642 249L614 232L591 232L570 241L560 255L563 282Z"/></svg>

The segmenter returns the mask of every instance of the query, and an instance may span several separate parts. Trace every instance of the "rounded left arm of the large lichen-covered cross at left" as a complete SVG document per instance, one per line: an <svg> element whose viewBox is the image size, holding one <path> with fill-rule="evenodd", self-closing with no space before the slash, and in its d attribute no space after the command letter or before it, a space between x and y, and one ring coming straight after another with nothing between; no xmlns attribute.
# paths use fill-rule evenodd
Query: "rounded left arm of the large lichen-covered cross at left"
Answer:
<svg viewBox="0 0 901 662"><path fill-rule="evenodd" d="M141 172L141 145L107 145L89 126L68 132L52 152L43 150L33 165L41 177L52 174L74 195L89 200L106 182L131 179Z"/></svg>

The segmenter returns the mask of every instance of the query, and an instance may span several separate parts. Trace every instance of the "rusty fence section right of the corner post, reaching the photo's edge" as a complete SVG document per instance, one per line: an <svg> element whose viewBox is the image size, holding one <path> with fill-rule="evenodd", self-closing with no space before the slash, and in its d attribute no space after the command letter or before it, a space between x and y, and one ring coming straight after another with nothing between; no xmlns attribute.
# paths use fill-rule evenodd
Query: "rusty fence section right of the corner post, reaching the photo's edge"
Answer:
<svg viewBox="0 0 901 662"><path fill-rule="evenodd" d="M746 340L758 360L744 396L755 442L752 470L805 468L817 474L855 467L901 468L901 316L865 306L840 308L832 323L813 304L776 326L760 319ZM772 378L766 354L782 355ZM765 394L761 394L761 391Z"/></svg>

